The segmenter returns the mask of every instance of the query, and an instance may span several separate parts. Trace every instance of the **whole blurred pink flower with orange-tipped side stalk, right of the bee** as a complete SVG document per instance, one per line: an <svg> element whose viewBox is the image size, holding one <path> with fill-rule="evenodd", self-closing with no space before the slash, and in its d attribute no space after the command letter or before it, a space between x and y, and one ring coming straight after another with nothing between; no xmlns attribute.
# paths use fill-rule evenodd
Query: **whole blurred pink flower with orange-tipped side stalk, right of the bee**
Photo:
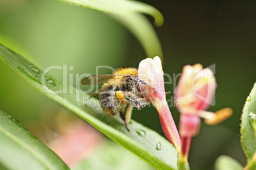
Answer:
<svg viewBox="0 0 256 170"><path fill-rule="evenodd" d="M213 125L224 121L232 114L231 108L223 108L215 114L205 111L213 100L217 83L213 72L203 69L201 64L183 67L178 86L176 87L176 108L180 112L179 132L181 136L180 162L187 161L190 142L199 133L201 119Z"/></svg>

